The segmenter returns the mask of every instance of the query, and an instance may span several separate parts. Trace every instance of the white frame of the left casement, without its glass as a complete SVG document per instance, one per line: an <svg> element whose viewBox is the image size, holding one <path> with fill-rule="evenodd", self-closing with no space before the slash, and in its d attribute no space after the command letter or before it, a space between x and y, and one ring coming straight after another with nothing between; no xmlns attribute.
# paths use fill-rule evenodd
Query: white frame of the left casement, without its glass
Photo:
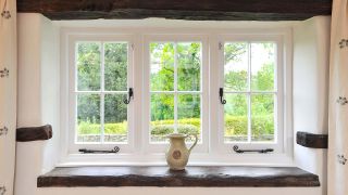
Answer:
<svg viewBox="0 0 348 195"><path fill-rule="evenodd" d="M107 92L103 89L103 81L104 81L104 50L103 50L103 43L105 42L126 42L128 44L128 58L127 58L127 89L133 88L134 86L134 51L133 51L133 36L132 35L86 35L86 34L79 34L79 35L69 35L67 42L69 42L69 49L67 49L67 55L69 55L69 153L74 154L78 153L79 148L92 148L92 150L111 150L115 145L120 147L120 151L124 153L132 153L134 151L134 104L130 103L127 105L127 143L112 143L112 142L105 142L105 143L77 143L76 142L76 116L77 116L77 102L76 96L77 93L89 93L86 92L77 92L76 86L77 86L77 73L76 73L76 43L77 42L100 42L100 63L101 63L101 89L100 92L91 92L96 94L101 94L101 96L104 96L104 94L127 94L127 91L122 92ZM101 120L103 120L103 99L101 98L101 105L100 105L100 117Z"/></svg>

